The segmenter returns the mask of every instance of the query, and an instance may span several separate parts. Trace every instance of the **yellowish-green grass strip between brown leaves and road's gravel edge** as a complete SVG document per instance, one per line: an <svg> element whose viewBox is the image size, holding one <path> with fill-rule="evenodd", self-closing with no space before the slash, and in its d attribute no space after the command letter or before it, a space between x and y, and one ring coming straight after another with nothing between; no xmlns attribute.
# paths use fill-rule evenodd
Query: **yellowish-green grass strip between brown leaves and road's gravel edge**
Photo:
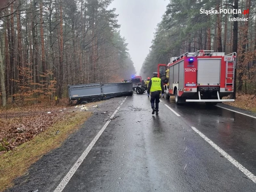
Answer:
<svg viewBox="0 0 256 192"><path fill-rule="evenodd" d="M46 131L0 156L0 191L13 186L13 180L26 173L31 164L62 142L92 115L74 111L69 118L56 122Z"/></svg>

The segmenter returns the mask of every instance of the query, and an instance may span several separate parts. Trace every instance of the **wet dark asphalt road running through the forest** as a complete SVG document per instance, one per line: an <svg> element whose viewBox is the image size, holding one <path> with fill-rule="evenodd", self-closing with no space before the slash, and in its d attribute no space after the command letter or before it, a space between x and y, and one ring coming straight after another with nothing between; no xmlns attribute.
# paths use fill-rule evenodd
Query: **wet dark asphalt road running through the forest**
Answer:
<svg viewBox="0 0 256 192"><path fill-rule="evenodd" d="M98 115L7 191L54 191L123 99L100 104ZM146 94L127 97L63 191L256 191L253 181L191 128L255 175L255 118L204 104L176 106L172 97L161 98L159 116L151 111Z"/></svg>

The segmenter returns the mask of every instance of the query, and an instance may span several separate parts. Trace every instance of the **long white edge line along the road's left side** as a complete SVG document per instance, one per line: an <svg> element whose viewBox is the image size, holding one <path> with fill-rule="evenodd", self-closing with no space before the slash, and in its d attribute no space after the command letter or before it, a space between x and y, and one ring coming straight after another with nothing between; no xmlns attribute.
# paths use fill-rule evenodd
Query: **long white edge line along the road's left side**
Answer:
<svg viewBox="0 0 256 192"><path fill-rule="evenodd" d="M101 130L99 131L99 133L94 137L94 139L92 140L92 142L89 144L89 146L85 149L85 151L83 152L83 154L78 158L78 160L75 162L75 164L73 165L73 167L70 169L70 171L66 174L66 176L62 179L62 181L60 182L60 184L58 185L58 187L54 190L54 192L61 192L65 186L68 184L69 180L71 179L71 177L73 176L73 174L76 172L76 170L78 169L78 167L82 164L83 160L85 159L85 157L88 155L88 153L90 152L90 150L92 149L92 147L94 146L94 144L96 143L96 141L98 140L98 138L100 137L100 135L104 132L104 130L106 129L106 127L109 125L111 119L115 116L115 114L118 112L118 109L120 109L120 106L115 110L115 112L111 115L111 117L109 118L109 120L105 123L105 125L101 128Z"/></svg>

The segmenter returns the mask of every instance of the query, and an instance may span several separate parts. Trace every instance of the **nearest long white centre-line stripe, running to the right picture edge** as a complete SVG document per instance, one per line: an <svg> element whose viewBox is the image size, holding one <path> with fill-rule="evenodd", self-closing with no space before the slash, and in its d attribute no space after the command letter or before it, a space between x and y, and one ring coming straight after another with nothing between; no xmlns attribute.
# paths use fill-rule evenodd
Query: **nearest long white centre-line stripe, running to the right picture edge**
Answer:
<svg viewBox="0 0 256 192"><path fill-rule="evenodd" d="M254 183L256 183L256 176L248 171L243 165L238 163L234 158L228 155L223 149L213 143L208 137L198 131L195 127L191 127L196 133L198 133L204 140L207 141L213 148L219 151L227 160L229 160L233 165L235 165L241 172L243 172L248 178L250 178Z"/></svg>

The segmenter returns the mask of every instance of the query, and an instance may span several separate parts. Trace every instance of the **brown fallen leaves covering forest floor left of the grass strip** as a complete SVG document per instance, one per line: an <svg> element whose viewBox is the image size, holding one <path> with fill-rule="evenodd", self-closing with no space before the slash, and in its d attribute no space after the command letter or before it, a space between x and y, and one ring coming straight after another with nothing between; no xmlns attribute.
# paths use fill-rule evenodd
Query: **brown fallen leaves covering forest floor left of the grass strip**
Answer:
<svg viewBox="0 0 256 192"><path fill-rule="evenodd" d="M95 104L90 103L88 106ZM86 106L87 107L87 106ZM74 116L74 111L81 108L74 106L31 105L22 108L0 110L0 155L6 150L12 150L20 144L31 140L34 136L46 131L56 122L67 120Z"/></svg>

